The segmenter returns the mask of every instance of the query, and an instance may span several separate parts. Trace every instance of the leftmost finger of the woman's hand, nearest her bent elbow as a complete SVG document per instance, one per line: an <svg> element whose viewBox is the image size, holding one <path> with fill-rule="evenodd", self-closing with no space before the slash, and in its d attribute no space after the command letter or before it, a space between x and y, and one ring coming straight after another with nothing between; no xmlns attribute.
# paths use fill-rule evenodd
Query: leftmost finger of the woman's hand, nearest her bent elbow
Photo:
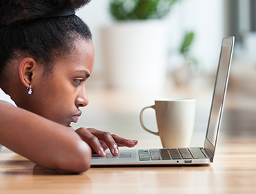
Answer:
<svg viewBox="0 0 256 194"><path fill-rule="evenodd" d="M106 156L106 153L104 151L104 148L101 146L101 143L99 142L99 139L94 136L90 131L88 131L85 128L79 128L76 130L76 132L79 134L81 139L85 142L87 142L92 149L95 150L95 152L100 156Z"/></svg>

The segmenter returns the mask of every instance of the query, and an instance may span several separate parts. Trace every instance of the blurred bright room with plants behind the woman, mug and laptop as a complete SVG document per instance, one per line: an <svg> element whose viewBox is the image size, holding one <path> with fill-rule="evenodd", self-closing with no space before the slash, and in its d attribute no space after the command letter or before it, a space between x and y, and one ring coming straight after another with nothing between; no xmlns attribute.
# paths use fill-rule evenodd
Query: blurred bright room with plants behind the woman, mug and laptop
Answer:
<svg viewBox="0 0 256 194"><path fill-rule="evenodd" d="M95 68L86 83L90 103L74 128L160 145L141 129L141 109L156 98L196 98L191 144L203 144L221 39L235 36L221 133L256 136L255 0L92 0L77 15L92 31ZM153 110L144 120L157 130Z"/></svg>

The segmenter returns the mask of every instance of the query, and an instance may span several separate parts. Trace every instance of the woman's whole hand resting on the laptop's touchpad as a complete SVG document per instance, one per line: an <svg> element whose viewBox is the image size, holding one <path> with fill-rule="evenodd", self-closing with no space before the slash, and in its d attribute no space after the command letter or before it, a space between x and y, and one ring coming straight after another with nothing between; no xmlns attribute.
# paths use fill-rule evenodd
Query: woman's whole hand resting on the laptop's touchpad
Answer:
<svg viewBox="0 0 256 194"><path fill-rule="evenodd" d="M95 152L100 156L106 156L106 149L110 149L112 155L119 155L118 147L134 147L138 143L137 140L126 140L106 131L99 131L93 128L86 129L81 127L75 132L90 145L92 153Z"/></svg>

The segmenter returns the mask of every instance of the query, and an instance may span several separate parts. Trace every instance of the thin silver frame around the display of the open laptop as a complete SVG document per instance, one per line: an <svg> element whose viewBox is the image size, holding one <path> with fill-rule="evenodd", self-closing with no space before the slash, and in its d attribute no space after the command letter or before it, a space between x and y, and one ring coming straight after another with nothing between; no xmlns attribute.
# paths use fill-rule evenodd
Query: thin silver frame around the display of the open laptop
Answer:
<svg viewBox="0 0 256 194"><path fill-rule="evenodd" d="M225 98L226 98L226 90L228 87L228 78L229 78L229 73L230 73L230 65L231 65L231 61L232 61L232 57L233 57L233 48L234 48L234 43L235 43L235 37L234 36L230 36L230 37L224 37L222 39L222 43L221 43L221 52L220 52L220 56L219 56L219 65L220 65L220 60L221 60L221 54L222 54L222 48L223 47L230 47L230 56L229 56L229 60L228 60L228 69L226 72L226 83L224 85L224 96L222 99L222 106L220 107L220 116L219 116L219 120L217 121L217 133L216 133L216 139L215 139L215 146L210 142L210 140L208 140L207 136L208 136L208 130L209 130L209 125L210 125L210 117L211 117L211 113L212 113L212 109L213 109L213 101L214 101L214 96L215 96L215 90L216 90L216 85L217 85L217 78L219 75L219 65L217 67L217 74L216 74L216 78L215 78L215 87L213 90L213 100L212 100L212 105L210 108L210 116L208 119L208 127L207 127L207 131L206 131L206 138L204 141L204 149L207 151L207 153L210 155L211 158L211 162L213 162L213 158L215 155L215 148L216 148L216 144L217 144L217 138L219 135L219 128L221 126L221 118L222 118L222 114L223 114L223 109L224 109L224 102L225 102Z"/></svg>

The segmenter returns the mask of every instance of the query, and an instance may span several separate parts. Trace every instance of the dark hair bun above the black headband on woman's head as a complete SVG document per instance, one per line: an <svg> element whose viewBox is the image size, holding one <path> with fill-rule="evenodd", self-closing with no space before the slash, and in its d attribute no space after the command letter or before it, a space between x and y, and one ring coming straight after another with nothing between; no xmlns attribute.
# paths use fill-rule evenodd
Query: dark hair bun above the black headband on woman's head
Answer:
<svg viewBox="0 0 256 194"><path fill-rule="evenodd" d="M63 7L77 10L89 2L90 0L1 0L0 24L30 21Z"/></svg>

